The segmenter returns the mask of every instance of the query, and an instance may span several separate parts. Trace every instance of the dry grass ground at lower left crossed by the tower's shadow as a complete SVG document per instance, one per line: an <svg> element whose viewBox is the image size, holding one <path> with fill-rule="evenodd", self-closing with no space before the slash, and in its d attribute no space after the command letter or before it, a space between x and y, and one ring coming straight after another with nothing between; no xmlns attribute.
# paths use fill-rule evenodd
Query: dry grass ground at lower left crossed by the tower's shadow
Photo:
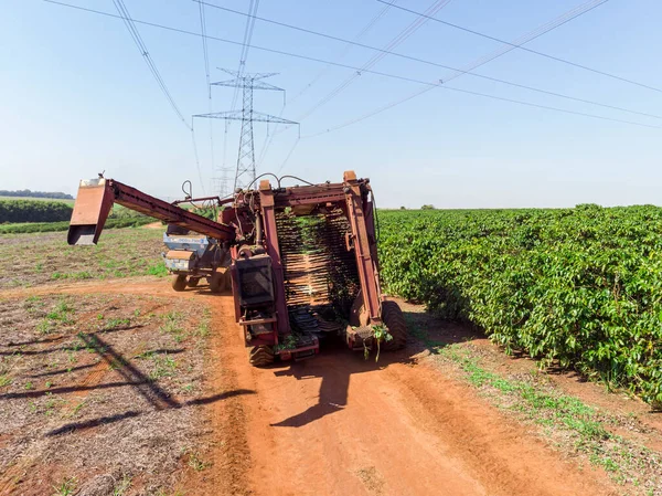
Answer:
<svg viewBox="0 0 662 496"><path fill-rule="evenodd" d="M207 320L148 296L3 300L0 493L157 494L204 469L199 410L222 399L203 387Z"/></svg>

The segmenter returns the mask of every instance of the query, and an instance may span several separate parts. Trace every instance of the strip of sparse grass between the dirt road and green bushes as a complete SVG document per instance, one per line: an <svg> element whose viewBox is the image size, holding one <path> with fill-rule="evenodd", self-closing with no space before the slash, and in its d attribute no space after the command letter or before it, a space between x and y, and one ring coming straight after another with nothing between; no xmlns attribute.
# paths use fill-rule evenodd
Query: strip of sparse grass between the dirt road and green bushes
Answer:
<svg viewBox="0 0 662 496"><path fill-rule="evenodd" d="M604 468L627 494L660 495L662 456L610 431L631 426L632 416L608 414L564 394L543 379L544 372L503 374L485 362L484 352L470 342L445 344L431 339L417 320L405 316L409 331L436 360L453 369L460 380L476 388L490 403L524 422L540 425L538 435L564 451L581 455Z"/></svg>

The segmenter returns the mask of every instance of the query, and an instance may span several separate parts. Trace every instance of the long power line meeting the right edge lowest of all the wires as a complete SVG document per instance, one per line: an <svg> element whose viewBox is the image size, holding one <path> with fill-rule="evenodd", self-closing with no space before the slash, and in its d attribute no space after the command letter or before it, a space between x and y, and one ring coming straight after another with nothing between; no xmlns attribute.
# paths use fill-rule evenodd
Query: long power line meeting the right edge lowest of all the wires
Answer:
<svg viewBox="0 0 662 496"><path fill-rule="evenodd" d="M47 2L47 3L58 4L58 6L62 6L62 7L68 7L68 8L77 9L77 10L83 10L83 11L86 11L86 12L97 13L97 14L100 14L100 15L106 15L106 17L110 17L110 18L121 19L119 15L115 15L115 14L111 14L111 13L108 13L108 12L103 12L103 11L98 11L98 10L87 9L87 8L78 7L78 6L72 6L72 4L58 2L58 1L55 1L55 0L43 0L43 1ZM195 33L195 32L192 32L192 31L182 30L182 29L179 29L179 28L167 27L167 25L158 24L158 23L153 23L153 22L139 21L139 20L134 20L134 22L137 22L137 23L140 23L140 24L145 24L145 25L150 25L152 28L164 29L164 30L172 31L172 32L179 32L179 33L188 34L188 35L192 35L192 36L202 36L202 34L200 34L200 33ZM212 36L212 35L209 35L209 34L206 35L206 38L207 38L207 40L220 41L220 42L223 42L223 43L229 43L229 44L235 44L235 45L241 45L242 44L242 43L236 42L236 41L225 40L225 39ZM352 70L355 70L355 71L360 70L360 67L355 67L355 66L348 65L348 64L342 64L342 63L339 63L339 62L332 62L332 61L327 61L327 60L323 60L323 59L310 57L310 56L307 56L307 55L300 55L300 54L296 54L296 53L291 53L291 52L285 52L285 51L275 50L275 49L267 49L267 48L256 46L256 45L253 45L253 49L254 50L260 50L260 51L269 52L269 53L276 53L276 54L279 54L279 55L291 56L291 57L296 57L296 59L300 59L300 60L307 60L307 61L311 61L311 62L319 62L319 63L322 63L322 64L331 64L331 65L335 65L335 66L340 66L340 67L352 68ZM438 87L438 88L442 88L442 89L449 88L449 89L452 89L452 91L462 92L462 89L459 89L459 88L450 88L448 86L439 85L438 83L430 83L430 82L426 82L426 81L421 81L421 80L415 80L415 78L412 78L412 77L399 76L399 75L395 75L395 74L388 74L388 73L383 73L383 72L378 72L378 71L372 71L372 70L366 70L364 72L370 73L370 74L381 75L381 76L385 76L385 77L393 77L393 78L401 80L401 81L408 81L408 82L424 84L426 86L429 86L429 87L426 87L425 91L430 91L430 89L433 89L435 87ZM420 93L423 93L423 92L420 92ZM536 106L535 104L528 104L526 102L520 102L520 101L514 101L514 99L501 98L501 97L498 97L498 96L482 94L482 93L477 93L477 92L466 92L466 93L472 93L472 94L476 94L476 95L479 95L479 96L485 96L488 98L493 97L495 99L504 99L504 101L510 101L510 102L513 102L513 103L521 103L523 105ZM416 95L414 95L414 96L416 96ZM631 124L631 125L634 125L634 126L660 128L659 126L653 126L653 125L648 125L648 124L642 124L642 123L633 123L633 122L630 122L630 120L615 119L615 118L604 117L604 116L599 116L599 115L595 115L595 114L575 113L573 110L566 110L566 109L556 108L556 107L548 107L548 106L540 106L540 107L541 108L551 109L551 110L563 112L563 113L567 113L567 114L583 115L583 116L586 116L586 117L592 117L592 118L598 118L598 119L604 119L604 120L619 122L619 123L622 123L622 124ZM323 133L327 133L327 131L323 131ZM321 133L321 134L323 134L323 133ZM308 137L311 137L311 136L308 136Z"/></svg>

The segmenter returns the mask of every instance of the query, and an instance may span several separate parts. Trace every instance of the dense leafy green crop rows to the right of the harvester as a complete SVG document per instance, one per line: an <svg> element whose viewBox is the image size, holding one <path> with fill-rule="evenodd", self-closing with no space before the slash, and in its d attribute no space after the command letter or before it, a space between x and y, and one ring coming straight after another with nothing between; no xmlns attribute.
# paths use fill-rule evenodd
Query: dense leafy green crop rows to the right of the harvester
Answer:
<svg viewBox="0 0 662 496"><path fill-rule="evenodd" d="M387 291L662 402L662 209L381 212Z"/></svg>

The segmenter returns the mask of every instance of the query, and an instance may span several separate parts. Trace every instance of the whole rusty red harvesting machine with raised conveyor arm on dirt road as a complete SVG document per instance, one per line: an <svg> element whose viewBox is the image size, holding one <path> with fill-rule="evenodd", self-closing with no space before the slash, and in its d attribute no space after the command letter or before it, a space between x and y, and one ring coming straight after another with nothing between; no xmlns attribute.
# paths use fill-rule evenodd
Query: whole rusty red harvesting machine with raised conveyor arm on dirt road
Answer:
<svg viewBox="0 0 662 496"><path fill-rule="evenodd" d="M229 199L188 199L213 200L215 222L99 175L81 181L67 242L96 244L113 203L214 240L255 366L312 357L333 335L354 350L403 348L403 314L380 288L370 180L345 171L342 182L281 187L274 177Z"/></svg>

